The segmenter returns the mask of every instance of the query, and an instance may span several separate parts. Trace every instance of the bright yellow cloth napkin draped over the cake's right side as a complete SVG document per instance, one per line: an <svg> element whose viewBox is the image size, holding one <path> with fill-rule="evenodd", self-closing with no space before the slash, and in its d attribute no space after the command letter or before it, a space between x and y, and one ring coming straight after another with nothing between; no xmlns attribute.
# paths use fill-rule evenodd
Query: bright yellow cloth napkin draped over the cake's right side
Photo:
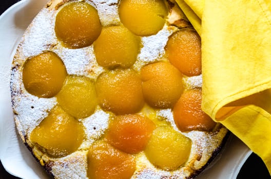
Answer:
<svg viewBox="0 0 271 179"><path fill-rule="evenodd" d="M202 109L271 175L271 1L176 2L202 38Z"/></svg>

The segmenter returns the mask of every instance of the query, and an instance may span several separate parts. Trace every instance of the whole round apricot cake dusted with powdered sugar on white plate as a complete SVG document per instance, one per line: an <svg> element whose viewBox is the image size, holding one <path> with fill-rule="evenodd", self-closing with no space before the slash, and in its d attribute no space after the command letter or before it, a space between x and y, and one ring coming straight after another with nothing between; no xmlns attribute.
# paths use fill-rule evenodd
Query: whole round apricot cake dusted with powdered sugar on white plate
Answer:
<svg viewBox="0 0 271 179"><path fill-rule="evenodd" d="M175 1L52 0L12 63L16 128L55 178L193 178L227 138L201 78Z"/></svg>

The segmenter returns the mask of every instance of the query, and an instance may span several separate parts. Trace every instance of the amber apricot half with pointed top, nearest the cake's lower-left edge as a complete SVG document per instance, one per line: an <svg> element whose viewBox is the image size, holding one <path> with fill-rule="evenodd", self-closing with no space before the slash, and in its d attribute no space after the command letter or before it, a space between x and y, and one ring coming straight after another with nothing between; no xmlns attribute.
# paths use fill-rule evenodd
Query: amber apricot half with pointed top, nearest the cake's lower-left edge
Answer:
<svg viewBox="0 0 271 179"><path fill-rule="evenodd" d="M30 140L52 157L68 155L81 145L84 138L82 124L60 106L31 132Z"/></svg>

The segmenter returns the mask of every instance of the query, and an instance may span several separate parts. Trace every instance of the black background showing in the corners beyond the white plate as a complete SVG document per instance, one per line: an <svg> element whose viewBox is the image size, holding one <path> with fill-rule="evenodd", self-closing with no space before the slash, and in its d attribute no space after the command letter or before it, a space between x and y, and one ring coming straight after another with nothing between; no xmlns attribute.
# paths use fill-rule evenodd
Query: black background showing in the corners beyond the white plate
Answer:
<svg viewBox="0 0 271 179"><path fill-rule="evenodd" d="M0 14L2 14L6 9L8 9L10 6L12 6L13 4L19 1L20 0L17 0L17 1L16 0L1 0ZM271 179L264 163L259 158L259 156L257 156L255 153L249 156L249 158L247 159L247 161L245 162L244 166L241 168L237 176L237 179L243 179L243 178ZM18 179L18 178L6 172L0 161L0 179ZM214 178L214 179L217 179L217 178ZM234 178L229 178L229 179L234 179Z"/></svg>

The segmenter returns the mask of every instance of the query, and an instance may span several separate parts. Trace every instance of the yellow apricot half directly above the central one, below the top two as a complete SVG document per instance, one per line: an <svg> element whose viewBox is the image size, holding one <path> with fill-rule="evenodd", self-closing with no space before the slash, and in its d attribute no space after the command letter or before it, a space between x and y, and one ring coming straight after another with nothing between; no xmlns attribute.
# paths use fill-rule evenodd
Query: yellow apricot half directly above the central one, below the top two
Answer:
<svg viewBox="0 0 271 179"><path fill-rule="evenodd" d="M94 52L99 65L105 68L129 68L137 59L140 38L123 26L103 28L94 42Z"/></svg>

